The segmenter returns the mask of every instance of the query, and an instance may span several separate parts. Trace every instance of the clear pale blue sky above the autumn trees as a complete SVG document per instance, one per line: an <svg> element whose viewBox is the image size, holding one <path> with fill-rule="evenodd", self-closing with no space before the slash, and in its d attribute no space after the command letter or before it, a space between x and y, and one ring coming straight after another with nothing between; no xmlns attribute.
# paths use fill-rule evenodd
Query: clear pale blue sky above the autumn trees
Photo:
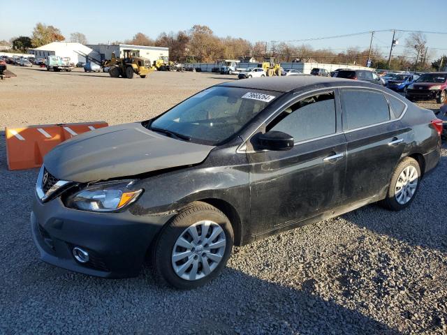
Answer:
<svg viewBox="0 0 447 335"><path fill-rule="evenodd" d="M210 27L220 37L251 42L302 40L402 29L447 33L445 0L376 1L2 1L0 40L31 36L37 22L61 29L67 39L80 31L91 44L126 40L138 32L156 38L161 32L188 30L194 24ZM60 6L57 5L59 3ZM129 5L126 5L129 3ZM315 4L314 4L315 3ZM430 4L429 4L430 3ZM439 8L439 10L437 10ZM122 11L120 11L120 9ZM404 54L409 33L397 32L393 54ZM447 34L425 34L432 57L447 54ZM373 46L388 54L393 33L374 34ZM295 42L342 52L369 47L370 34Z"/></svg>

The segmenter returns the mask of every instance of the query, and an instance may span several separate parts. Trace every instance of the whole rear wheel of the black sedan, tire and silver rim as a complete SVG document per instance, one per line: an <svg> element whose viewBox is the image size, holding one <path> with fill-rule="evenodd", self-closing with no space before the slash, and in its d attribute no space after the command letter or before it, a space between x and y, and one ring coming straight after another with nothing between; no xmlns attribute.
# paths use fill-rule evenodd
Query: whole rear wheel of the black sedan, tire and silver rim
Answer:
<svg viewBox="0 0 447 335"><path fill-rule="evenodd" d="M405 178L402 178L405 171L407 172L406 174L409 175L409 179L406 180ZM420 176L419 163L411 157L404 158L399 164L397 164L393 172L393 177L391 177L386 198L382 202L383 207L386 207L391 211L401 211L402 209L409 207L418 193ZM400 185L406 185L400 188L404 191L398 192L398 183Z"/></svg>

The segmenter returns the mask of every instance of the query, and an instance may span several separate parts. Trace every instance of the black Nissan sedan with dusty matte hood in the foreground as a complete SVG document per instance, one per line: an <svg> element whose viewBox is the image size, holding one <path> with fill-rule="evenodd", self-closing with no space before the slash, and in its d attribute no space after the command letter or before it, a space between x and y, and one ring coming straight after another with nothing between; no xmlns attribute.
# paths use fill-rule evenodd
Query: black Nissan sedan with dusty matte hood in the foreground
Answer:
<svg viewBox="0 0 447 335"><path fill-rule="evenodd" d="M150 112L148 112L150 114ZM147 121L45 155L31 212L45 262L196 288L233 245L381 201L399 211L440 158L441 120L368 82L223 82Z"/></svg>

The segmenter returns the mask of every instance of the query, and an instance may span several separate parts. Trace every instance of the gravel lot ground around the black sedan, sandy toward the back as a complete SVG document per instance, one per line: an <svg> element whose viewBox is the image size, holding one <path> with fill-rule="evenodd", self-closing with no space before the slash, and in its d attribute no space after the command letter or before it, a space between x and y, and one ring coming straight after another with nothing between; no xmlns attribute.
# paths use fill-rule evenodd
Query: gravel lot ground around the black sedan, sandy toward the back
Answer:
<svg viewBox="0 0 447 335"><path fill-rule="evenodd" d="M0 128L147 119L230 78L11 70ZM178 291L156 285L149 267L105 280L38 260L29 229L37 171L8 171L1 135L0 334L447 334L445 145L409 209L373 204L235 248L219 278Z"/></svg>

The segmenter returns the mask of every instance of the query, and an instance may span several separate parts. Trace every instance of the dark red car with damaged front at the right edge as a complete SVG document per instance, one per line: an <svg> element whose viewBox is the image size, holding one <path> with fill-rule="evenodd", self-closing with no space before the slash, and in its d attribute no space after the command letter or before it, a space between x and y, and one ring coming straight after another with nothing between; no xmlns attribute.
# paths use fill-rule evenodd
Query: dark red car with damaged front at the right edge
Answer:
<svg viewBox="0 0 447 335"><path fill-rule="evenodd" d="M435 99L437 103L447 98L447 72L424 73L406 88L405 97L410 101Z"/></svg>

